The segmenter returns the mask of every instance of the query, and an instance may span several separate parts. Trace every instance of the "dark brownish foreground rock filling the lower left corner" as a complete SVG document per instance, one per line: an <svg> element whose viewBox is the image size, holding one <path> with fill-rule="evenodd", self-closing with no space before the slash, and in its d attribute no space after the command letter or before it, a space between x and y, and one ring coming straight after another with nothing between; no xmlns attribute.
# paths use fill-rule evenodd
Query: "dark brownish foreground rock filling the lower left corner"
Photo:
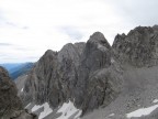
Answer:
<svg viewBox="0 0 158 119"><path fill-rule="evenodd" d="M15 84L10 79L8 72L0 67L0 118L35 119L35 116L23 110L22 102L16 94Z"/></svg>

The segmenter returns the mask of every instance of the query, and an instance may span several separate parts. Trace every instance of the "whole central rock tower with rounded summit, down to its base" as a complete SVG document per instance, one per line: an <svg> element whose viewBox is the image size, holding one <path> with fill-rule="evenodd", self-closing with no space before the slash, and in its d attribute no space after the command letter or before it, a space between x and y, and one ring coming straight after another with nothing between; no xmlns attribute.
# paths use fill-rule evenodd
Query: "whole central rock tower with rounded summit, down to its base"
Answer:
<svg viewBox="0 0 158 119"><path fill-rule="evenodd" d="M111 58L111 46L104 35L100 32L92 34L80 58L78 80L75 89L75 102L78 107L81 106L83 112L108 105L110 101L108 101L105 91L110 90L115 94L115 90L110 89L113 87L109 87L109 80L117 80L116 75L119 76L120 73L110 77L115 71ZM113 72L110 72L110 68L113 68ZM109 75L106 75L108 72L110 72ZM113 83L115 85L115 82ZM119 88L116 90L120 91ZM111 97L113 96L111 95Z"/></svg>

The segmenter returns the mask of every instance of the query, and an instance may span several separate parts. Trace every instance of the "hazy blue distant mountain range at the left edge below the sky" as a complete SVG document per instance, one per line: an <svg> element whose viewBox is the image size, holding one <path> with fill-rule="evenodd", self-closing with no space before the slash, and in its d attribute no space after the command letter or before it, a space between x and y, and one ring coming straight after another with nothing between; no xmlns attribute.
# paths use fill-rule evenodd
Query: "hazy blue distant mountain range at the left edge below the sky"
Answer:
<svg viewBox="0 0 158 119"><path fill-rule="evenodd" d="M32 67L34 63L7 63L0 64L5 69L8 69L10 77L12 79L16 79L19 76L26 74Z"/></svg>

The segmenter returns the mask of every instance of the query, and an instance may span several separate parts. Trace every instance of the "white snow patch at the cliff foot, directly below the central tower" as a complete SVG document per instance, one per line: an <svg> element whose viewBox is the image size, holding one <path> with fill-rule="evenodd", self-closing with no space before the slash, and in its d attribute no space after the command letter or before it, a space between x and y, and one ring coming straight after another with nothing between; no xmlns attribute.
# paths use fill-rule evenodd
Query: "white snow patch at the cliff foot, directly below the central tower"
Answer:
<svg viewBox="0 0 158 119"><path fill-rule="evenodd" d="M61 116L58 117L57 119L68 119L70 116L75 115L77 111L79 111L76 116L75 119L78 119L81 115L81 110L77 109L74 106L74 102L69 100L69 102L65 102L57 112L61 112Z"/></svg>

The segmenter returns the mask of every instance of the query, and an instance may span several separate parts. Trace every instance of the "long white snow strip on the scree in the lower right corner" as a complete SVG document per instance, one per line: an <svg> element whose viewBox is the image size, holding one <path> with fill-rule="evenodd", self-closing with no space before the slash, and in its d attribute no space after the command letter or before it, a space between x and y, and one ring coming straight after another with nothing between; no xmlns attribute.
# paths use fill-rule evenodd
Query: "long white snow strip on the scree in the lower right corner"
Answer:
<svg viewBox="0 0 158 119"><path fill-rule="evenodd" d="M156 108L158 108L158 105L154 105L148 108L140 108L138 110L127 113L126 116L127 118L147 116L150 112L153 112Z"/></svg>

